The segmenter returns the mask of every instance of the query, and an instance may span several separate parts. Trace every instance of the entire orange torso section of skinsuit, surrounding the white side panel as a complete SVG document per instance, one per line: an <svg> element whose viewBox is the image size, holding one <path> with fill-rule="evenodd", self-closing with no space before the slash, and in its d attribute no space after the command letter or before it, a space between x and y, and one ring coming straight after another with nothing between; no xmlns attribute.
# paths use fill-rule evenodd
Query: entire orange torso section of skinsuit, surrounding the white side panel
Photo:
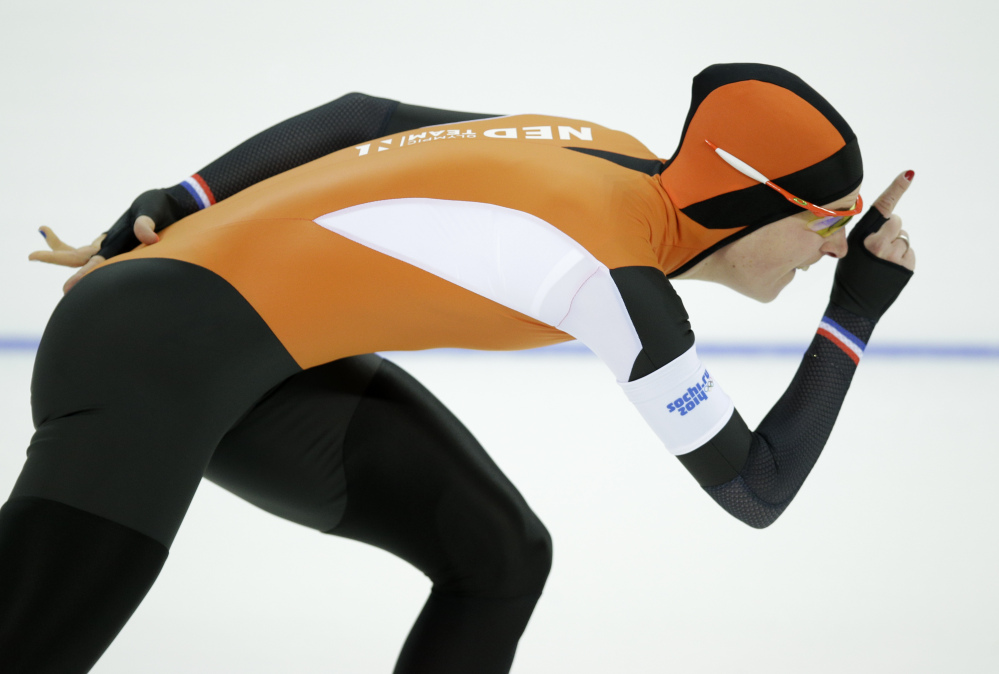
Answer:
<svg viewBox="0 0 999 674"><path fill-rule="evenodd" d="M559 126L589 127L593 140L560 139ZM528 137L545 136L546 127L550 139ZM160 243L111 263L166 257L212 270L260 313L302 367L377 350L522 349L569 339L313 222L350 206L399 198L489 203L545 220L609 268L670 264L673 210L658 177L564 149L655 158L631 136L537 115L434 128L476 137L408 145L420 129L372 141L367 153L346 148L185 218ZM516 129L518 137L487 137L489 129Z"/></svg>

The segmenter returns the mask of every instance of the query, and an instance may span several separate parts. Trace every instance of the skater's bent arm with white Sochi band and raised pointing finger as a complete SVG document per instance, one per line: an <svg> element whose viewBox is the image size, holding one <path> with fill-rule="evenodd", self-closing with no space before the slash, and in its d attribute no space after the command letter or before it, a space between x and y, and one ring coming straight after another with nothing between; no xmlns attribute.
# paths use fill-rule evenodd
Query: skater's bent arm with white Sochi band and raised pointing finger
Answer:
<svg viewBox="0 0 999 674"><path fill-rule="evenodd" d="M756 431L697 359L686 313L665 276L651 268L615 270L643 346L623 388L704 490L750 526L770 525L801 488L877 320L912 274L915 257L898 239L901 221L883 214L891 214L907 185L900 176L851 234L854 252L839 263L818 332Z"/></svg>

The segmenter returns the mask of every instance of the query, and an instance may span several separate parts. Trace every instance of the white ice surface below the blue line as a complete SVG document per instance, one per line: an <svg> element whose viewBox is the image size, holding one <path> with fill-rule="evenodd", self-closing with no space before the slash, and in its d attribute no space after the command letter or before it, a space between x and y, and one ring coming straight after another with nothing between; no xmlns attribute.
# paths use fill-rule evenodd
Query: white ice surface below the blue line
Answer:
<svg viewBox="0 0 999 674"><path fill-rule="evenodd" d="M547 524L555 563L516 674L999 671L999 363L869 359L785 515L719 509L588 356L393 355ZM0 357L0 492L30 437L31 358ZM715 358L755 425L792 358ZM428 581L215 485L97 674L391 671Z"/></svg>

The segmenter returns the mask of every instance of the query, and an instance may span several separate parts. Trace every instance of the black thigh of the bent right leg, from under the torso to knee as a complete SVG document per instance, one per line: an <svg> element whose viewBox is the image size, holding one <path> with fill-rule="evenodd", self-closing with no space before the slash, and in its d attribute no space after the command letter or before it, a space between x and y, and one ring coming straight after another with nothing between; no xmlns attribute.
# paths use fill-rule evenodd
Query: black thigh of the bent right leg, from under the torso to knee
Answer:
<svg viewBox="0 0 999 674"><path fill-rule="evenodd" d="M550 550L468 429L374 355L284 382L223 439L206 477L268 512L392 552L442 590L502 592L494 581L511 559Z"/></svg>

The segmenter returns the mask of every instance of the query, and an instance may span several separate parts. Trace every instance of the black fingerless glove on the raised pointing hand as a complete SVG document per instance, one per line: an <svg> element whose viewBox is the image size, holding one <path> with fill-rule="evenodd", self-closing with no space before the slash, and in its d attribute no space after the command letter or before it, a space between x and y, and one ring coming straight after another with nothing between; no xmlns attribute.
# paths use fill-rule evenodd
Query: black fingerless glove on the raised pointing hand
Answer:
<svg viewBox="0 0 999 674"><path fill-rule="evenodd" d="M912 277L910 270L879 258L864 245L864 239L887 221L888 218L872 207L854 225L847 237L846 257L836 264L830 296L843 309L874 321L888 311Z"/></svg>

